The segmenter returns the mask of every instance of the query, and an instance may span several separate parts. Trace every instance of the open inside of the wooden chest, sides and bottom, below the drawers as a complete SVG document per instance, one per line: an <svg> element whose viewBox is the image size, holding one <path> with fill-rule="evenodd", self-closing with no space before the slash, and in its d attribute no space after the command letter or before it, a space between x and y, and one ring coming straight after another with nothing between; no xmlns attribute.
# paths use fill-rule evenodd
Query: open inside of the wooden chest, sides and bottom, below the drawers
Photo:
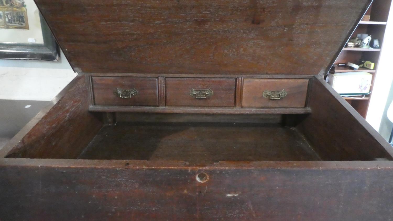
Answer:
<svg viewBox="0 0 393 221"><path fill-rule="evenodd" d="M312 79L310 114L89 112L84 77L4 148L13 158L184 161L391 160L375 131L323 80ZM81 93L82 92L82 93ZM70 101L73 100L71 103ZM61 113L61 114L59 114ZM337 128L340 123L345 130ZM7 152L4 152L7 151Z"/></svg>

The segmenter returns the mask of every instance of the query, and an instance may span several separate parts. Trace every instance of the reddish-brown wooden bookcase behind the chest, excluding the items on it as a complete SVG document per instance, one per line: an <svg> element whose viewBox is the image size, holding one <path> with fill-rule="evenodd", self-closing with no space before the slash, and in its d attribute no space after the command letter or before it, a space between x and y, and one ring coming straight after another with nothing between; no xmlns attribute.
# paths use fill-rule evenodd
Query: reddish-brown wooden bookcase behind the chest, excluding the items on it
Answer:
<svg viewBox="0 0 393 221"><path fill-rule="evenodd" d="M369 7L365 15L370 15L370 21L361 21L356 27L352 37L356 37L357 34L368 34L371 35L373 39L379 40L379 45L383 46L384 34L387 24L387 17L389 16L389 9L392 0L375 0L373 4ZM369 60L375 63L375 68L373 70L367 68L359 68L357 71L364 71L371 73L373 78L371 80L371 92L373 91L373 84L375 76L378 73L378 60L380 56L381 48L360 48L360 47L344 47L338 56L334 64L351 62L354 64L359 64L360 59ZM346 67L337 67L336 73L340 72L355 72L352 69ZM356 111L366 117L369 100L371 99L372 93L366 95L364 98L360 97L343 97Z"/></svg>

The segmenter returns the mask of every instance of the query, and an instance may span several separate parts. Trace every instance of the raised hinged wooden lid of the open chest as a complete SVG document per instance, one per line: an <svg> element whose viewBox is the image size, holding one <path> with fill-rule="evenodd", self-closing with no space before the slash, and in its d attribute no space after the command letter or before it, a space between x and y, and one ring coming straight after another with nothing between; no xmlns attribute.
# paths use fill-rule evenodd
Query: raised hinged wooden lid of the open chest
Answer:
<svg viewBox="0 0 393 221"><path fill-rule="evenodd" d="M35 0L83 73L327 73L371 0Z"/></svg>

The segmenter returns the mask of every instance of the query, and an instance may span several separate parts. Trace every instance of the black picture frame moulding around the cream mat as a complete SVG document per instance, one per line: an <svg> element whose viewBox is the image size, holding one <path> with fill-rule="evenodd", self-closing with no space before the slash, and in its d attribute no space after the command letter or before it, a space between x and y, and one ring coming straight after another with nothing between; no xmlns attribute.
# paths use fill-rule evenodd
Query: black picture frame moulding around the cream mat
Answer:
<svg viewBox="0 0 393 221"><path fill-rule="evenodd" d="M19 44L0 42L0 59L59 60L59 45L40 13L44 44Z"/></svg>

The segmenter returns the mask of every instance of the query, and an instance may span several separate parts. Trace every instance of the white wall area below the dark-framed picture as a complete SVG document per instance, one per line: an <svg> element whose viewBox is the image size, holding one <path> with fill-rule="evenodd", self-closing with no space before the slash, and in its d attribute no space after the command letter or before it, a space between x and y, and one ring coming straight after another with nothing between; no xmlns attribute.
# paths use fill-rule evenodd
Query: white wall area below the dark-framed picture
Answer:
<svg viewBox="0 0 393 221"><path fill-rule="evenodd" d="M0 99L52 100L75 76L62 53L59 62L0 59Z"/></svg>

